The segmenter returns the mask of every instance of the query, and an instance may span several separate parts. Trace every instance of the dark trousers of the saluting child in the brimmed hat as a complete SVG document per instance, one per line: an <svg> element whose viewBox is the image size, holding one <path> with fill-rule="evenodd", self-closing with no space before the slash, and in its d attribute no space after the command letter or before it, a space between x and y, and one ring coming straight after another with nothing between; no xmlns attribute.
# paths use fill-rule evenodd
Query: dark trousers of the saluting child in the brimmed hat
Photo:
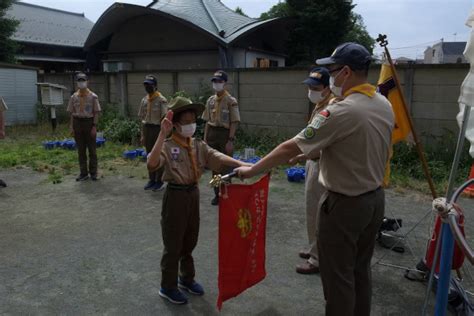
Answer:
<svg viewBox="0 0 474 316"><path fill-rule="evenodd" d="M166 187L161 211L161 287L165 289L177 288L178 270L183 281L194 280L192 252L199 235L199 189L173 187Z"/></svg>

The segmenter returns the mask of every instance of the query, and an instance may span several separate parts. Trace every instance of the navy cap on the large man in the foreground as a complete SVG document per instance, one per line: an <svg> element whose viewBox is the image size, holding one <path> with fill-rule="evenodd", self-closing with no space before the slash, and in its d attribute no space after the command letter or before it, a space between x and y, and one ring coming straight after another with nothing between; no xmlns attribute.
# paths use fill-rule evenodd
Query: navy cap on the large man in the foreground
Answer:
<svg viewBox="0 0 474 316"><path fill-rule="evenodd" d="M318 65L347 65L359 70L367 67L372 61L369 51L357 43L344 43L339 45L331 56L316 60Z"/></svg>

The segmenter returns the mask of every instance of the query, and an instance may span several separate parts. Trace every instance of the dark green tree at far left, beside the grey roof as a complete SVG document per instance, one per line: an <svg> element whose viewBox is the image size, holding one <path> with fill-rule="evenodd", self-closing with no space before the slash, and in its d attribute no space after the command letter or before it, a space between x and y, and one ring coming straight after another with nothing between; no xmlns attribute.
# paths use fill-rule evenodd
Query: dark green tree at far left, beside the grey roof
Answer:
<svg viewBox="0 0 474 316"><path fill-rule="evenodd" d="M11 39L19 21L6 16L7 9L12 5L13 0L0 1L0 61L15 62L15 53L18 50L18 44Z"/></svg>

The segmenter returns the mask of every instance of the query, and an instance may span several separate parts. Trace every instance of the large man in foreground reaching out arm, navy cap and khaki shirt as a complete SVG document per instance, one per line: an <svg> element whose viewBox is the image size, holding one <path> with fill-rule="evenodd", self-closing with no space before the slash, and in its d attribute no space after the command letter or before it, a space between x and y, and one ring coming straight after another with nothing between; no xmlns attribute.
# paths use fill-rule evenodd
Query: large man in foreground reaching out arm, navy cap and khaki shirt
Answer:
<svg viewBox="0 0 474 316"><path fill-rule="evenodd" d="M370 261L384 215L381 185L394 126L390 102L367 83L370 61L355 43L317 60L328 65L331 91L342 100L254 166L236 169L251 177L301 153L320 157L326 191L319 202L319 268L329 316L370 315Z"/></svg>

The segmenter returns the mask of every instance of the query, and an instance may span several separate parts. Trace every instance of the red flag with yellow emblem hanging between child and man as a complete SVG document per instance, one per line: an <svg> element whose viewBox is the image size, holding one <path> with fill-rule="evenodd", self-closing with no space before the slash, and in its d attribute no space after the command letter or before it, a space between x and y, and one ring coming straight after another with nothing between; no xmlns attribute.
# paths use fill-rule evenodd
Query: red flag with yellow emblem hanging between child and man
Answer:
<svg viewBox="0 0 474 316"><path fill-rule="evenodd" d="M229 184L219 199L219 297L217 308L262 281L270 174L258 182Z"/></svg>

